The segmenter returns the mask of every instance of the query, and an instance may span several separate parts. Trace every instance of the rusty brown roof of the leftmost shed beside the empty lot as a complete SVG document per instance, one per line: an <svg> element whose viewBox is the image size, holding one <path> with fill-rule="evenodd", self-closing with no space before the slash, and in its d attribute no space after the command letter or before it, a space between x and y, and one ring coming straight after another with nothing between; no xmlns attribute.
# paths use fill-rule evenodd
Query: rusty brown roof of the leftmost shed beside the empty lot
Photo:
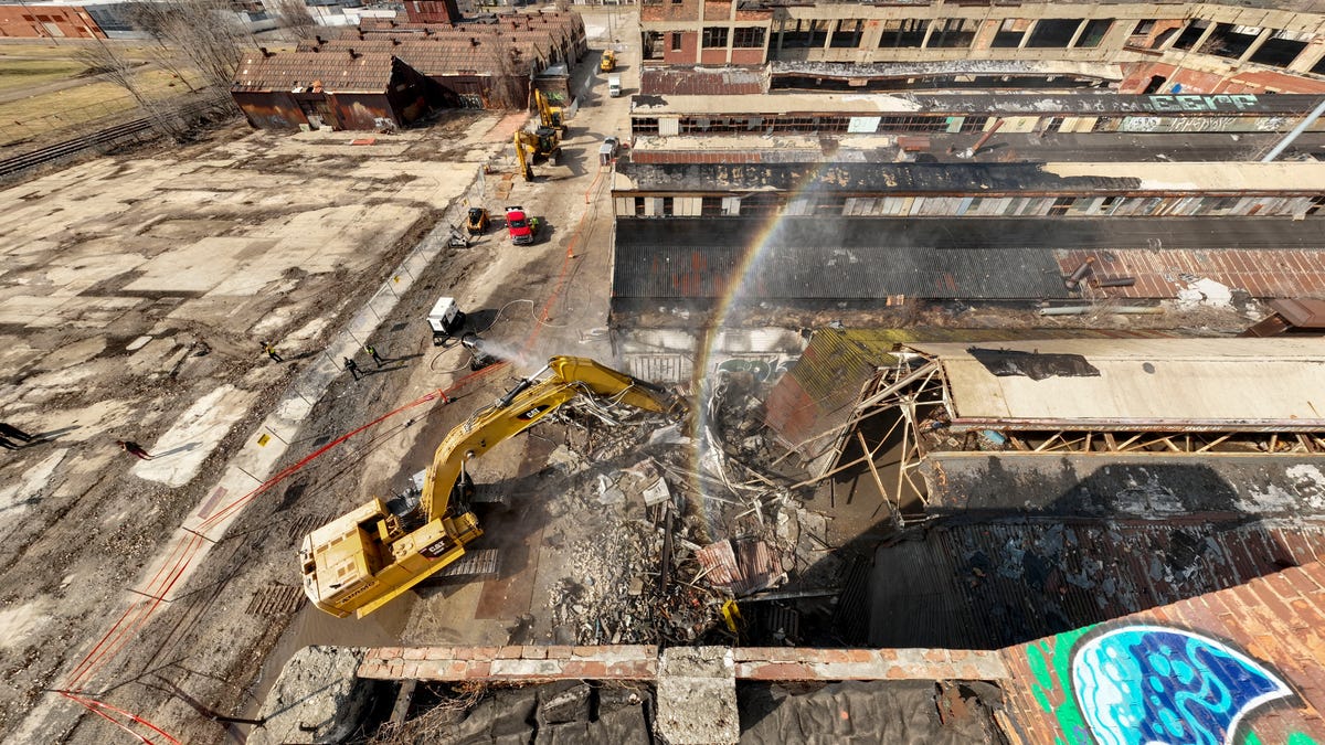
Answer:
<svg viewBox="0 0 1325 745"><path fill-rule="evenodd" d="M395 57L384 53L318 54L285 52L245 56L235 76L237 91L303 90L314 82L326 93L386 93Z"/></svg>

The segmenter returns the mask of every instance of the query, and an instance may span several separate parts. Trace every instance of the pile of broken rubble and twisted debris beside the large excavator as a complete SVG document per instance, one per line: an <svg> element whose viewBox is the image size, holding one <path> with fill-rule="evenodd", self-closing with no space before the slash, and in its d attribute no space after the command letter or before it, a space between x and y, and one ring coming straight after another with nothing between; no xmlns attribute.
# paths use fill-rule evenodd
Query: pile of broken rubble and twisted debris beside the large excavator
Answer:
<svg viewBox="0 0 1325 745"><path fill-rule="evenodd" d="M822 563L823 517L750 464L766 447L754 387L706 398L693 435L649 415L571 419L553 457L567 492L545 532L568 574L546 595L555 643L731 642L729 601Z"/></svg>

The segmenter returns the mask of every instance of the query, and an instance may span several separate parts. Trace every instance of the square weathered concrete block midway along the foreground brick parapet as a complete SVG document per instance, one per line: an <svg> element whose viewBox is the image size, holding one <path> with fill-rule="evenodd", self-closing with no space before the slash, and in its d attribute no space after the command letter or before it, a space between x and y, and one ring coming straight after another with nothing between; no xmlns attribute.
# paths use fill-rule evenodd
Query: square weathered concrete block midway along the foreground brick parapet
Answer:
<svg viewBox="0 0 1325 745"><path fill-rule="evenodd" d="M741 738L737 669L729 647L662 650L657 730L670 745L719 745Z"/></svg>

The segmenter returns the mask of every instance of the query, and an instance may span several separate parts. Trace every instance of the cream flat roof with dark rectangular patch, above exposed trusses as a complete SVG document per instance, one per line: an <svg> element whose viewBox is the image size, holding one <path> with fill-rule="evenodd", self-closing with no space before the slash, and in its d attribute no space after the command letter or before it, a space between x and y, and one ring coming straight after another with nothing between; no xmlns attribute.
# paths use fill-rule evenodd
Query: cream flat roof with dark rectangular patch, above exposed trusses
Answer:
<svg viewBox="0 0 1325 745"><path fill-rule="evenodd" d="M908 346L942 365L954 427L1325 430L1320 339Z"/></svg>

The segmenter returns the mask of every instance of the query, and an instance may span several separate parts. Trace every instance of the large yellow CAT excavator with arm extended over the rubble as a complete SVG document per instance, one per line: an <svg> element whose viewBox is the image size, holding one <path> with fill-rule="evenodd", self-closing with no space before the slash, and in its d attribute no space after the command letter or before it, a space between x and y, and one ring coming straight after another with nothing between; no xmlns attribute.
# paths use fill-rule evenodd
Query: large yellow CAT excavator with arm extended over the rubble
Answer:
<svg viewBox="0 0 1325 745"><path fill-rule="evenodd" d="M688 412L684 399L592 359L549 359L443 439L412 512L396 514L374 498L303 538L299 565L313 604L338 618L363 618L464 555L482 536L466 504L473 487L465 463L576 399L603 414L617 404L676 419Z"/></svg>

